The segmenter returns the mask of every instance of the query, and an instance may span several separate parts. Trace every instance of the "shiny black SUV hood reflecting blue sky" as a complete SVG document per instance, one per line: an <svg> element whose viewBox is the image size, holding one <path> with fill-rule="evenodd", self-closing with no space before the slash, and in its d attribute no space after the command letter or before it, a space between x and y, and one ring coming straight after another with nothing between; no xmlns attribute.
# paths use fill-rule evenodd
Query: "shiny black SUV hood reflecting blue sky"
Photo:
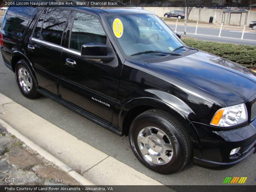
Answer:
<svg viewBox="0 0 256 192"><path fill-rule="evenodd" d="M227 105L245 102L256 93L256 73L206 52L145 65L210 92Z"/></svg>

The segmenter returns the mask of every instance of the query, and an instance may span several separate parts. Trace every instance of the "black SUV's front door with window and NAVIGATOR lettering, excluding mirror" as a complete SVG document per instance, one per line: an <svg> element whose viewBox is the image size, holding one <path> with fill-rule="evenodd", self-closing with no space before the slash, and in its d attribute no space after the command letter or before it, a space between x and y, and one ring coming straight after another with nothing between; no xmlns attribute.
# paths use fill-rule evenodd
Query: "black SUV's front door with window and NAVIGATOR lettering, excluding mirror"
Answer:
<svg viewBox="0 0 256 192"><path fill-rule="evenodd" d="M96 16L74 12L72 18L61 57L61 97L111 123L122 64L82 58L82 44L112 45Z"/></svg>

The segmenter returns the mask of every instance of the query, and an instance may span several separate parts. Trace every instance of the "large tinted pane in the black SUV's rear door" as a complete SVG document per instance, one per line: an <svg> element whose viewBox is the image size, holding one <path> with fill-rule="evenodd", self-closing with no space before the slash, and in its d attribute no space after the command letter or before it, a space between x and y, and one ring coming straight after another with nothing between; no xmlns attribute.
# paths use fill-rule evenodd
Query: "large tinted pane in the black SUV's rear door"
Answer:
<svg viewBox="0 0 256 192"><path fill-rule="evenodd" d="M60 45L68 11L50 8L44 19L40 39Z"/></svg>

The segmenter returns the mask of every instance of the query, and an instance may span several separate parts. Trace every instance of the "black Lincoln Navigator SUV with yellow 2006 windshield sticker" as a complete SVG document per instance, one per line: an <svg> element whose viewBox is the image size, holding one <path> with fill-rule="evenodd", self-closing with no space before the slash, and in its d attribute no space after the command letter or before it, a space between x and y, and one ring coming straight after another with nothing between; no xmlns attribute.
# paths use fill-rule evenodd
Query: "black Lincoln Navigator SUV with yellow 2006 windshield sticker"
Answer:
<svg viewBox="0 0 256 192"><path fill-rule="evenodd" d="M0 43L25 97L48 96L129 135L156 172L255 152L256 74L186 46L151 12L11 6Z"/></svg>

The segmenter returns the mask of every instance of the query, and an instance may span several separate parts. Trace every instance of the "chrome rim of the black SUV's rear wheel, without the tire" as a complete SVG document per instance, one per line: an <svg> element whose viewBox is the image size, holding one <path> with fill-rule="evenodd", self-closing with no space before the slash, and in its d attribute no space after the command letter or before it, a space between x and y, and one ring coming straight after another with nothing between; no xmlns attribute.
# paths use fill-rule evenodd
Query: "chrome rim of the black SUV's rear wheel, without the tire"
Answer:
<svg viewBox="0 0 256 192"><path fill-rule="evenodd" d="M28 71L21 67L18 71L18 81L20 84L20 88L25 92L28 93L32 88L32 79L29 76Z"/></svg>

